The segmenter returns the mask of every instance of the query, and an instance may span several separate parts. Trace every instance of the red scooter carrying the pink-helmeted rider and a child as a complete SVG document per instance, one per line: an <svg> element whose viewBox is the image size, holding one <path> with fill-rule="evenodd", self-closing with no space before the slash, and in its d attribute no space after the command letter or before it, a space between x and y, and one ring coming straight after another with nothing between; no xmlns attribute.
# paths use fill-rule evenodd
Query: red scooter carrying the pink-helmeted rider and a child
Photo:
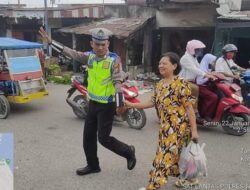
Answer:
<svg viewBox="0 0 250 190"><path fill-rule="evenodd" d="M217 77L217 80L210 82L210 84L213 91L217 92L219 101L213 118L206 120L204 119L206 115L203 116L203 125L208 127L220 125L224 131L235 136L247 133L250 123L250 109L242 104L240 86L229 83L220 77ZM202 105L200 98L198 102ZM201 109L207 108L200 106L199 112Z"/></svg>

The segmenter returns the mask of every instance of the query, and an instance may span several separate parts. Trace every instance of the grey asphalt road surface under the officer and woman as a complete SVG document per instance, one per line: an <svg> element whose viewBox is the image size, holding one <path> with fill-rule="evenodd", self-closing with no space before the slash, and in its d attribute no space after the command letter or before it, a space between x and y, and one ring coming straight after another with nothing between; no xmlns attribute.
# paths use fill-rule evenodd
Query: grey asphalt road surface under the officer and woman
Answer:
<svg viewBox="0 0 250 190"><path fill-rule="evenodd" d="M127 170L125 159L99 145L102 172L79 177L75 170L86 164L84 121L65 102L68 88L49 84L47 98L12 105L8 119L0 121L0 133L14 134L15 190L137 190L145 186L157 146L155 110L146 110L147 124L142 130L114 124L112 135L136 147L134 170ZM203 187L196 189L250 189L250 134L231 136L217 127L199 128L199 135L200 142L206 143L208 176L200 179ZM162 189L177 189L174 181L170 177Z"/></svg>

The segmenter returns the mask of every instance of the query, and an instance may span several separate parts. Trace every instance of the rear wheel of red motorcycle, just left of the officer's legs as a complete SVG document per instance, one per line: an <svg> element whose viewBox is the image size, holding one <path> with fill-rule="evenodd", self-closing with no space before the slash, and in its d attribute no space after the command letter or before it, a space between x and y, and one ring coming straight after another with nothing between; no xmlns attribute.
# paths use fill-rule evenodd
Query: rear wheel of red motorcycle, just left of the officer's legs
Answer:
<svg viewBox="0 0 250 190"><path fill-rule="evenodd" d="M85 119L87 116L88 112L88 100L86 96L83 95L77 95L74 97L73 101L79 105L79 107L82 109L82 112L73 109L74 114L79 118L79 119Z"/></svg>

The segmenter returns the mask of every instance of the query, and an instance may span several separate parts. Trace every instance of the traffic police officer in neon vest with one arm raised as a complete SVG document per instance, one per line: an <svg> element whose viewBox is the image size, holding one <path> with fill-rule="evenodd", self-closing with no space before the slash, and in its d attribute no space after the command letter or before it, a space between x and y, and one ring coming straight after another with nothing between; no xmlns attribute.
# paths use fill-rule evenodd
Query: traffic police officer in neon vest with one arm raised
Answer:
<svg viewBox="0 0 250 190"><path fill-rule="evenodd" d="M39 33L51 47L88 66L89 110L83 132L83 149L87 166L79 168L77 175L100 172L97 157L97 139L112 152L126 158L127 168L136 164L135 148L110 136L115 112L125 110L121 91L122 67L119 56L109 51L111 31L105 28L90 30L92 51L78 52L51 40L41 27Z"/></svg>

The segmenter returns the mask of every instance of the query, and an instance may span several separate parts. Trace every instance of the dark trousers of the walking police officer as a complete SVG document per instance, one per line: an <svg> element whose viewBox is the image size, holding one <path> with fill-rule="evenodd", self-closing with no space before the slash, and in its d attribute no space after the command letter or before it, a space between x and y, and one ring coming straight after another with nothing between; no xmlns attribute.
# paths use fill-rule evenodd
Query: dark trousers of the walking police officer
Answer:
<svg viewBox="0 0 250 190"><path fill-rule="evenodd" d="M103 104L90 100L89 111L83 130L83 148L87 164L91 168L99 167L97 138L100 144L114 153L125 158L131 156L130 148L127 144L110 136L115 111L115 103Z"/></svg>

